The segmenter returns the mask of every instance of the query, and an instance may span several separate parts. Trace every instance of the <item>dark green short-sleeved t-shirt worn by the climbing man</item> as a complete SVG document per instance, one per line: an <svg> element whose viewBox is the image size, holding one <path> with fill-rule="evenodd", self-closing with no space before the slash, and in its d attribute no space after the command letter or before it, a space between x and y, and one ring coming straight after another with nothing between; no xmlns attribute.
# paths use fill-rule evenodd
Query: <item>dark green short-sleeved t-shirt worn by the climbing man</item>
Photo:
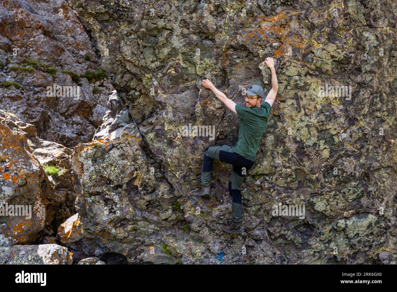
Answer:
<svg viewBox="0 0 397 292"><path fill-rule="evenodd" d="M240 118L239 139L233 151L245 157L254 157L258 151L259 141L268 125L271 106L262 102L260 107L247 108L236 104L237 116Z"/></svg>

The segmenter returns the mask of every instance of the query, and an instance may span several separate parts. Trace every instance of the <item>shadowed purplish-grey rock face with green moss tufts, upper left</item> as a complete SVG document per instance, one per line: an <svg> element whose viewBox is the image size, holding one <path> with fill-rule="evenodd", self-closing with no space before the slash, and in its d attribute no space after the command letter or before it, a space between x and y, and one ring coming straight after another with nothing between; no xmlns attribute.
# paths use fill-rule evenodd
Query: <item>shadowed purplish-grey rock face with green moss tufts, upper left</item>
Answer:
<svg viewBox="0 0 397 292"><path fill-rule="evenodd" d="M0 19L1 109L35 125L44 140L72 148L90 141L113 87L73 11L64 0L10 0ZM75 86L73 94L48 96L54 84Z"/></svg>

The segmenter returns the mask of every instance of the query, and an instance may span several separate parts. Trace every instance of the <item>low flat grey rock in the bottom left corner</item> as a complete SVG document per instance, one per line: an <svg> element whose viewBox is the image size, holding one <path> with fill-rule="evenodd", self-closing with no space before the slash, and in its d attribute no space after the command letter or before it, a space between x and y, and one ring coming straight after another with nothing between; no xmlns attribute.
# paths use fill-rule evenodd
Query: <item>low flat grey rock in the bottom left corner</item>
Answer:
<svg viewBox="0 0 397 292"><path fill-rule="evenodd" d="M15 245L0 248L0 265L71 265L72 254L56 244Z"/></svg>

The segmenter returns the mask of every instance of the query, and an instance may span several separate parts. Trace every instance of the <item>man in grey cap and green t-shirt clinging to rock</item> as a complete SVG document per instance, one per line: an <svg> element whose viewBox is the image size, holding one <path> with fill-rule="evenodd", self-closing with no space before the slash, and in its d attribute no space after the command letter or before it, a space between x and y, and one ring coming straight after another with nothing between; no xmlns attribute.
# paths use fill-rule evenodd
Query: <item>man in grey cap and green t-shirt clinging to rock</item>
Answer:
<svg viewBox="0 0 397 292"><path fill-rule="evenodd" d="M225 232L243 232L243 217L242 217L242 197L241 197L241 183L243 182L247 171L254 165L255 156L258 150L258 145L262 134L266 130L268 119L270 116L270 109L276 99L278 90L278 81L276 76L276 69L274 68L273 58L266 58L266 65L272 72L272 89L269 91L264 102L263 88L259 85L251 85L248 90L245 90L245 107L235 104L233 100L226 97L223 92L220 92L211 81L205 79L202 85L205 88L211 89L221 102L227 106L228 109L237 113L240 118L239 138L237 144L232 148L227 145L207 147L204 152L204 159L201 171L201 195L210 195L210 177L212 172L213 159L230 163L233 165L231 175L229 178L229 193L232 200L232 217L233 222L230 225L225 225L222 230Z"/></svg>

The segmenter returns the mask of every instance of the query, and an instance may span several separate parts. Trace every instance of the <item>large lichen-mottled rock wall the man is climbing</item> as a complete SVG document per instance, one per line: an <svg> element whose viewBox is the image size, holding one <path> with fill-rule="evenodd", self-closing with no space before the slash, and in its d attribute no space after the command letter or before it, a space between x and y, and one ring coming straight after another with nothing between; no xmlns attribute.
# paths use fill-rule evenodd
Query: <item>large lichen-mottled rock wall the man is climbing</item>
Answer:
<svg viewBox="0 0 397 292"><path fill-rule="evenodd" d="M69 4L117 92L74 149L65 244L130 263L397 263L395 1ZM204 148L234 146L239 120L201 81L243 104L243 88L270 90L268 56L279 91L243 184L246 231L225 234L231 166L214 163L210 200L197 188ZM189 123L214 139L183 136Z"/></svg>

